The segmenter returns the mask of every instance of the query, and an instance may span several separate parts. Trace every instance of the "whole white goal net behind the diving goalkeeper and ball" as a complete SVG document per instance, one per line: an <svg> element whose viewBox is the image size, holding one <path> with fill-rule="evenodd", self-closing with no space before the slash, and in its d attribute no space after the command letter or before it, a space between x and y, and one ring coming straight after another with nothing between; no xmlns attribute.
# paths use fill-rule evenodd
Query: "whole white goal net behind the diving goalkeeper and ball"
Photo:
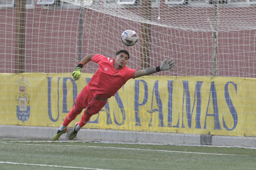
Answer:
<svg viewBox="0 0 256 170"><path fill-rule="evenodd" d="M126 49L132 69L176 66L127 81L75 140L255 147L254 3L0 0L0 137L50 140L98 68L74 81L78 62Z"/></svg>

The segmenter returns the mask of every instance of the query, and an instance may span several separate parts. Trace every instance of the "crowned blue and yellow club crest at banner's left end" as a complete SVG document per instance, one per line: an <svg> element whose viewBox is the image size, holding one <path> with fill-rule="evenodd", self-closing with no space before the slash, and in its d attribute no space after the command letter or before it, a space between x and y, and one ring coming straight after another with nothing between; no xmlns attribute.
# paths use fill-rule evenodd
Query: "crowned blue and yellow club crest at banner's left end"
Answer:
<svg viewBox="0 0 256 170"><path fill-rule="evenodd" d="M30 116L30 104L29 104L29 95L26 93L29 82L22 77L16 81L16 86L18 87L17 99L17 118L24 122L28 120Z"/></svg>

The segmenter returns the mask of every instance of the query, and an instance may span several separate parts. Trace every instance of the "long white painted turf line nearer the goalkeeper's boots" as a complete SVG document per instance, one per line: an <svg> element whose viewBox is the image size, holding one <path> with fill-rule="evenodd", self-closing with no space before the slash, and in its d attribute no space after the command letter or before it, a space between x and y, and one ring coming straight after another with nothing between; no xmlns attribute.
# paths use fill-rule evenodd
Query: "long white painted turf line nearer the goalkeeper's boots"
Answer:
<svg viewBox="0 0 256 170"><path fill-rule="evenodd" d="M3 144L15 144L15 143L3 143ZM16 145L45 145L45 144L16 144ZM48 146L48 145L45 145ZM208 155L226 155L226 156L249 156L249 155L232 155L221 153L204 153L204 152L183 152L183 151L166 151L166 150L154 150L154 149L135 149L135 148L119 148L119 147L106 147L106 146L82 146L82 145L50 145L50 146L75 146L75 147L94 147L94 148L109 148L109 149L127 149L127 150L139 150L139 151L159 151L159 152L176 152L176 153L195 153L195 154L208 154Z"/></svg>

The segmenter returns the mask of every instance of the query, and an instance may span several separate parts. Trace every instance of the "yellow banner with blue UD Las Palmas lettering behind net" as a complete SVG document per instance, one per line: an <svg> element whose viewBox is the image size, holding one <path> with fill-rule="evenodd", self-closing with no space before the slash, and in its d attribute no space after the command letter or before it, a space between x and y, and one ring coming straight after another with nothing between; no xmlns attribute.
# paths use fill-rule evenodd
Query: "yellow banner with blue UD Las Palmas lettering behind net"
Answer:
<svg viewBox="0 0 256 170"><path fill-rule="evenodd" d="M0 74L0 124L59 127L92 75L83 73L74 81L70 73ZM131 79L84 127L256 137L255 81L236 77Z"/></svg>

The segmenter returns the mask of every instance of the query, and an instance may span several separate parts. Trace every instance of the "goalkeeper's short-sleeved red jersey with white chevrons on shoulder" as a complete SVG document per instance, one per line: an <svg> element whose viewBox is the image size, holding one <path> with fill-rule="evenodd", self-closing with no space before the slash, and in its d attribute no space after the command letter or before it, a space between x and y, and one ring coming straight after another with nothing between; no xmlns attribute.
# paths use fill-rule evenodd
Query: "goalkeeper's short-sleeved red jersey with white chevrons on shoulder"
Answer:
<svg viewBox="0 0 256 170"><path fill-rule="evenodd" d="M108 99L115 96L126 81L131 78L134 79L136 69L124 66L123 69L116 70L114 67L115 59L96 54L93 56L92 62L99 64L98 70L87 85L89 93L94 97Z"/></svg>

